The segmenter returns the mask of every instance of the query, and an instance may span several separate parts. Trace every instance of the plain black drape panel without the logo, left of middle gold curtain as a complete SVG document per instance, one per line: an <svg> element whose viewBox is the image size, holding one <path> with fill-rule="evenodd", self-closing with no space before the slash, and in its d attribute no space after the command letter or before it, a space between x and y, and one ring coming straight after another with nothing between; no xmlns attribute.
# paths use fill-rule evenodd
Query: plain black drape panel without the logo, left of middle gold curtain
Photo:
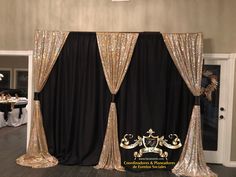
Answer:
<svg viewBox="0 0 236 177"><path fill-rule="evenodd" d="M110 92L95 33L69 34L40 102L49 152L61 164L97 164Z"/></svg>

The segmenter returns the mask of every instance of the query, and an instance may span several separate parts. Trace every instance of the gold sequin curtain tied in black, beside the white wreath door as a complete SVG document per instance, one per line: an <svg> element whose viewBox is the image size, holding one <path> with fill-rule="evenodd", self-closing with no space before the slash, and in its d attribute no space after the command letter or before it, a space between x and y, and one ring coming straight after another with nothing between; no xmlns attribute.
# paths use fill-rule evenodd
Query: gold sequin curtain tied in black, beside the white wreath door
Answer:
<svg viewBox="0 0 236 177"><path fill-rule="evenodd" d="M163 38L178 71L196 100L183 151L172 172L178 176L215 177L217 175L206 165L201 136L202 33L165 33Z"/></svg>

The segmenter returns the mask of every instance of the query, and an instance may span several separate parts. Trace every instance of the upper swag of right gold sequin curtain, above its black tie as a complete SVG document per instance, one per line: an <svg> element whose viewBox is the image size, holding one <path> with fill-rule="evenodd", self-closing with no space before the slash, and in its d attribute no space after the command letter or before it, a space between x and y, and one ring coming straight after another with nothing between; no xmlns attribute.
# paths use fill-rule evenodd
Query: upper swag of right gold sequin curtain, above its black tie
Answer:
<svg viewBox="0 0 236 177"><path fill-rule="evenodd" d="M201 94L202 78L202 33L164 33L168 51L194 96Z"/></svg>

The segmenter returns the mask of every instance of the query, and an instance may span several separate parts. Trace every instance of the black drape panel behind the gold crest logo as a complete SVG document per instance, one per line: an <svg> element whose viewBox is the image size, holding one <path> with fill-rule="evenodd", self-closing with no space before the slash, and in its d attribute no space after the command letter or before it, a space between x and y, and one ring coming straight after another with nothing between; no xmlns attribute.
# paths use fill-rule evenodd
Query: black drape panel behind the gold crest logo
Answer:
<svg viewBox="0 0 236 177"><path fill-rule="evenodd" d="M140 33L117 95L120 139L126 133L142 137L152 128L155 135L166 139L169 134L177 134L184 144L193 105L194 97L177 71L161 33ZM121 149L122 161L132 162L134 151L139 149ZM169 153L169 162L177 162L182 150L162 149Z"/></svg>

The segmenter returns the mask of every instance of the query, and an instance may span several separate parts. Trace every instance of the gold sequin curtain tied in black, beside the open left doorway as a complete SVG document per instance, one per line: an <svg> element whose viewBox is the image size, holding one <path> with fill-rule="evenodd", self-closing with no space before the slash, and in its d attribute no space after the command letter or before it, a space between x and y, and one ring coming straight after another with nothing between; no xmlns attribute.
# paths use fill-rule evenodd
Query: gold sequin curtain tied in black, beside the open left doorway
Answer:
<svg viewBox="0 0 236 177"><path fill-rule="evenodd" d="M42 122L38 93L43 89L55 64L68 32L36 31L33 54L35 98L29 145L26 154L16 159L16 163L32 168L47 168L58 164L58 160L48 153L47 141Z"/></svg>

